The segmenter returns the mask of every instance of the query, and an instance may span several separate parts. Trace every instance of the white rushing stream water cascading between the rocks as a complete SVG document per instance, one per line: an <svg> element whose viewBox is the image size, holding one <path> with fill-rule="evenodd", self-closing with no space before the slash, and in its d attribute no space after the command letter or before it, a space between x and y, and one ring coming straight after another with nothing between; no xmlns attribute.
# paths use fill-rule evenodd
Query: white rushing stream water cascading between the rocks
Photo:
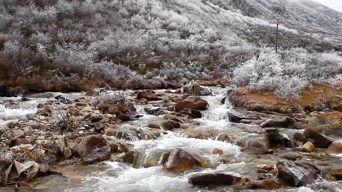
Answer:
<svg viewBox="0 0 342 192"><path fill-rule="evenodd" d="M162 93L164 90L157 90ZM227 120L227 105L222 105L220 101L224 98L225 89L211 88L212 96L203 96L209 108L202 112L201 119L190 120L184 124L197 122L193 129L200 130L224 130L234 137L242 137L248 133L233 128ZM173 91L174 92L174 91ZM29 101L19 101L21 98L0 98L0 127L8 121L17 121L27 114L36 111L38 103L46 102L47 98L55 97L59 93L43 93L29 95ZM83 96L84 93L63 94L71 99ZM6 108L8 100L16 102L15 105ZM2 101L2 102L1 102ZM144 113L145 106L136 106L137 111ZM135 121L124 122L122 129L129 129L131 125L138 126L146 130L148 123L160 123L163 116L146 115ZM199 125L198 125L199 123ZM192 129L191 127L189 129ZM147 130L146 130L147 131ZM189 138L183 132L170 132L161 134L155 140L139 140L132 138L128 143L134 145L133 150L140 152L140 162L138 168L133 168L129 164L118 162L104 162L92 166L72 167L72 173L81 175L80 179L63 176L47 176L33 181L33 189L36 192L239 192L244 188L231 188L226 186L216 188L199 188L188 183L188 176L195 173L208 173L214 171L228 171L250 178L256 178L255 169L260 164L244 163L237 160L241 153L239 148L228 142L221 142L215 138L206 140ZM184 149L200 157L202 165L206 168L192 170L185 173L172 173L162 170L160 157L163 153L174 149ZM214 155L212 151L219 148L222 155ZM220 160L231 160L230 164L221 164ZM71 168L70 168L71 169ZM342 192L342 184L335 182L320 181L312 186L296 189L279 190L279 192ZM253 190L252 190L253 191ZM247 191L245 191L247 192ZM250 192L248 190L248 192ZM261 192L260 190L257 192Z"/></svg>

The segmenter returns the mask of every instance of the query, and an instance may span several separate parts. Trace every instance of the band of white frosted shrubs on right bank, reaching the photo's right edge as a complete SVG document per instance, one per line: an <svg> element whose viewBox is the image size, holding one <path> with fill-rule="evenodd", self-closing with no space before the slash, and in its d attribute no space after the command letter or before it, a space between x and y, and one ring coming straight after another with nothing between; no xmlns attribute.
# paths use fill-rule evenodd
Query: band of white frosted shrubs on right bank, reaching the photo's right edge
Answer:
<svg viewBox="0 0 342 192"><path fill-rule="evenodd" d="M310 83L336 84L340 80L340 56L328 55L329 59L324 59L322 65L321 62L306 64L293 57L283 59L280 54L261 52L235 68L233 81L252 91L273 91L282 98L298 98ZM326 56L323 53L319 58Z"/></svg>

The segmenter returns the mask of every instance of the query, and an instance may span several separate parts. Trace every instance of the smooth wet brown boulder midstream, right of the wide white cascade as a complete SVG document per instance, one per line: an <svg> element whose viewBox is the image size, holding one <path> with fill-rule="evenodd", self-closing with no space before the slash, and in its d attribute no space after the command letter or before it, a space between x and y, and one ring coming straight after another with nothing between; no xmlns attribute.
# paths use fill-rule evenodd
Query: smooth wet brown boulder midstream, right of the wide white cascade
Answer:
<svg viewBox="0 0 342 192"><path fill-rule="evenodd" d="M265 134L244 137L236 145L243 147L242 151L252 154L266 154L270 149L270 142Z"/></svg>

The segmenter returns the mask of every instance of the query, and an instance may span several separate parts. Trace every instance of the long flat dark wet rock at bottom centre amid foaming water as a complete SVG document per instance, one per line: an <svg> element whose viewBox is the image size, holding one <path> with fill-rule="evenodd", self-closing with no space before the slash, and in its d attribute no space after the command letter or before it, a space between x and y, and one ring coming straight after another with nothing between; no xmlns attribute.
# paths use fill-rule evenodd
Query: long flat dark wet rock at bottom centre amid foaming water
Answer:
<svg viewBox="0 0 342 192"><path fill-rule="evenodd" d="M235 185L240 183L242 179L243 178L240 175L225 171L194 174L188 177L189 183L194 186Z"/></svg>

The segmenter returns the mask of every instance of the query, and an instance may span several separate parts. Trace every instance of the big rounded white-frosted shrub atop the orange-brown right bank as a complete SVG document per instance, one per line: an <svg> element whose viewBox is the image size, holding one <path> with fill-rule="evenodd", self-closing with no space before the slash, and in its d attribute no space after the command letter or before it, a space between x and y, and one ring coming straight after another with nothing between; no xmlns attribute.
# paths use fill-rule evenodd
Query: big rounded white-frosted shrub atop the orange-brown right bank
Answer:
<svg viewBox="0 0 342 192"><path fill-rule="evenodd" d="M279 97L298 98L308 86L306 65L301 61L282 60L279 54L263 53L233 71L234 82L253 91L274 91Z"/></svg>

